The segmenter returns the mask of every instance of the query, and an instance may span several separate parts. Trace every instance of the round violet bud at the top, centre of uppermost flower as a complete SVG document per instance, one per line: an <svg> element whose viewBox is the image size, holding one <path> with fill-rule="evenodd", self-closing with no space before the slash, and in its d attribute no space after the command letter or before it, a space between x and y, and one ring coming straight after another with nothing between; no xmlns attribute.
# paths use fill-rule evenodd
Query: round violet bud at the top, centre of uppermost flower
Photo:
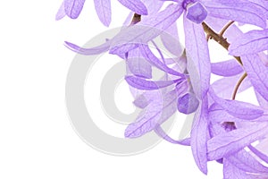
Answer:
<svg viewBox="0 0 268 179"><path fill-rule="evenodd" d="M188 20L193 21L195 23L201 23L205 20L207 16L207 11L203 4L200 4L199 2L196 2L194 4L187 4L186 8L186 17Z"/></svg>

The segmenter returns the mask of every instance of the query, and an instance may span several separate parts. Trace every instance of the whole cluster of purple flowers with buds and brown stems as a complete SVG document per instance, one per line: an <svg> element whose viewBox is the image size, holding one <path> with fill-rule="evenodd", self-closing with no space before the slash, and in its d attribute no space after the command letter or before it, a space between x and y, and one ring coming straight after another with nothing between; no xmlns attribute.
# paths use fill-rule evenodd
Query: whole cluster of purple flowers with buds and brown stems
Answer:
<svg viewBox="0 0 268 179"><path fill-rule="evenodd" d="M134 104L143 109L125 137L154 131L167 141L188 145L205 175L207 162L215 160L223 165L225 179L268 178L268 1L118 1L131 11L127 27L98 47L65 46L82 55L108 51L125 60L125 81L138 91ZM84 3L64 0L56 19L78 18ZM110 0L94 3L99 20L109 26ZM168 5L163 9L163 4ZM180 18L184 47L178 43ZM248 24L252 30L243 32L241 27ZM156 46L159 37L171 58ZM212 63L208 40L215 40L232 58ZM153 67L164 72L158 81L153 80ZM212 83L212 74L221 79ZM236 100L237 93L251 87L258 106ZM190 136L181 141L161 128L176 111L195 114Z"/></svg>

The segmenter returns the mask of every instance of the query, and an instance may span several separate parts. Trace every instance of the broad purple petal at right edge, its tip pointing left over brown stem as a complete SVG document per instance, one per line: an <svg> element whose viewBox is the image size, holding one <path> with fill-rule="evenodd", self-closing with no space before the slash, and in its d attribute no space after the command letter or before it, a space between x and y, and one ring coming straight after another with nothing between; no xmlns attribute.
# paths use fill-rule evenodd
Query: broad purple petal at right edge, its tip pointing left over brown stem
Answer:
<svg viewBox="0 0 268 179"><path fill-rule="evenodd" d="M230 44L230 55L255 54L268 50L268 30L251 30Z"/></svg>

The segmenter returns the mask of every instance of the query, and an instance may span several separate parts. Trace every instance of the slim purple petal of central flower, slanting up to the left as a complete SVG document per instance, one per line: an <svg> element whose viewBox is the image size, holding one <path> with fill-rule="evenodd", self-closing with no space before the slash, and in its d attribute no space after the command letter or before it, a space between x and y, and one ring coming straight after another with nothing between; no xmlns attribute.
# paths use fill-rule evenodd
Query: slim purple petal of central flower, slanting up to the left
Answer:
<svg viewBox="0 0 268 179"><path fill-rule="evenodd" d="M150 64L155 65L155 67L159 68L160 70L163 70L164 72L168 72L170 74L176 75L176 76L180 76L180 77L185 77L185 75L183 73L180 72L176 72L174 70L172 70L172 68L169 68L167 65L163 64L163 62L161 62L150 50L149 47L145 46L145 45L140 45L139 46L140 52L146 57L147 61Z"/></svg>

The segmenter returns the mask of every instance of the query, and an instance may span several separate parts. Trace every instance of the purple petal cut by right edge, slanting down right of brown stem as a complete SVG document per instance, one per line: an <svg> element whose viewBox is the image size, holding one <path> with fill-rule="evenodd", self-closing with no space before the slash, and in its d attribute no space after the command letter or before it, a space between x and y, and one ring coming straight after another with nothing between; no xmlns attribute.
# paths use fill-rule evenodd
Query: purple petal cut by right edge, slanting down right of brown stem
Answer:
<svg viewBox="0 0 268 179"><path fill-rule="evenodd" d="M258 55L244 55L241 59L254 89L268 100L268 68Z"/></svg>

